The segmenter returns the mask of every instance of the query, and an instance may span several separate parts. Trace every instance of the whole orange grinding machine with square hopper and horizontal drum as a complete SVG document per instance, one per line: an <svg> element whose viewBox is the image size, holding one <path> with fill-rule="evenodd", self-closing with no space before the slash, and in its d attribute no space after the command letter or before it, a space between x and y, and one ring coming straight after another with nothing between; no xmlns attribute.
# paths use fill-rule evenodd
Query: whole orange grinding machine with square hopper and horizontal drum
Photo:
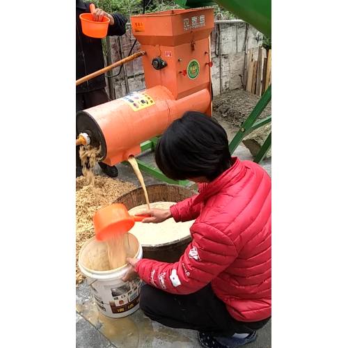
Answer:
<svg viewBox="0 0 348 348"><path fill-rule="evenodd" d="M77 130L102 148L113 166L141 152L185 111L212 115L209 35L212 8L168 10L131 17L145 51L146 89L77 113Z"/></svg>

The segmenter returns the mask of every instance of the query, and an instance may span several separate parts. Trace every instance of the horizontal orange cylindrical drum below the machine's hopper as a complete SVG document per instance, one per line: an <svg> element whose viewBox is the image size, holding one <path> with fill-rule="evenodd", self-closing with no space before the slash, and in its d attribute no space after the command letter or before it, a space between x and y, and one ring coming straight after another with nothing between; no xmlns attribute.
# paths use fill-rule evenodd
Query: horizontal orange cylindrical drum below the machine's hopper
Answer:
<svg viewBox="0 0 348 348"><path fill-rule="evenodd" d="M79 111L77 131L87 133L92 145L100 144L102 161L113 166L138 155L143 141L162 134L185 111L209 113L210 106L207 88L175 100L166 87L155 86Z"/></svg>

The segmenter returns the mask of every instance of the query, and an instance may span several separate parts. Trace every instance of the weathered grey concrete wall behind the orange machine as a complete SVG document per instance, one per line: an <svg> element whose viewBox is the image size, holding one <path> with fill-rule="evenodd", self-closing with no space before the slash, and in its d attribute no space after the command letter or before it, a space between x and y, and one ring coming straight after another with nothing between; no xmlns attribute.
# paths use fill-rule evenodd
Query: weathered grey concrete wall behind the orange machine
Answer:
<svg viewBox="0 0 348 348"><path fill-rule="evenodd" d="M106 63L110 64L128 56L134 43L134 36L130 26L127 26L125 35L120 38L108 38L107 40L109 40L109 47L107 48L111 52L111 62ZM211 35L214 95L220 95L227 90L242 88L246 71L246 51L253 49L253 54L257 57L258 46L261 45L261 42L262 34L246 23L220 24L220 28L219 25L215 25ZM140 45L136 42L132 53L139 49ZM120 68L116 68L108 74L115 75L119 71ZM108 86L109 83L110 79L107 81ZM111 78L111 85L113 85L110 94L111 99L145 88L141 58L127 63L117 77Z"/></svg>

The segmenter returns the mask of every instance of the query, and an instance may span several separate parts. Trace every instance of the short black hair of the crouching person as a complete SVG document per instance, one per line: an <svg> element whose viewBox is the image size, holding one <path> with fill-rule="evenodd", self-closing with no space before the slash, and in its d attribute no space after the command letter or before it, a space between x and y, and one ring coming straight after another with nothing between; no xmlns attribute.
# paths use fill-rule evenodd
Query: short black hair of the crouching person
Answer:
<svg viewBox="0 0 348 348"><path fill-rule="evenodd" d="M187 111L166 129L155 159L172 180L204 176L212 181L232 165L225 129L198 111Z"/></svg>

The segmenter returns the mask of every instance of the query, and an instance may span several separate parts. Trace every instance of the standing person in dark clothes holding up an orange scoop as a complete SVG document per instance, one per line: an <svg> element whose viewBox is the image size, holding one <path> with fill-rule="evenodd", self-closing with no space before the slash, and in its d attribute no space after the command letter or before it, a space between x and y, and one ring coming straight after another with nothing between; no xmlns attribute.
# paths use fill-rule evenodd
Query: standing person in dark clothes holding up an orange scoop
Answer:
<svg viewBox="0 0 348 348"><path fill-rule="evenodd" d="M81 13L89 13L90 2L76 0L76 79L80 79L92 72L104 68L104 56L102 50L102 40L90 38L81 29ZM104 12L101 8L96 8L93 13L94 19L102 19L106 16L110 19L108 36L123 35L126 32L127 19L119 13ZM90 79L84 84L76 87L76 112L88 109L92 106L109 102L109 97L105 90L106 82L104 74ZM116 177L118 171L116 166L107 166L100 162L102 171L109 177ZM76 148L76 176L82 174L81 160L79 159L79 147Z"/></svg>

